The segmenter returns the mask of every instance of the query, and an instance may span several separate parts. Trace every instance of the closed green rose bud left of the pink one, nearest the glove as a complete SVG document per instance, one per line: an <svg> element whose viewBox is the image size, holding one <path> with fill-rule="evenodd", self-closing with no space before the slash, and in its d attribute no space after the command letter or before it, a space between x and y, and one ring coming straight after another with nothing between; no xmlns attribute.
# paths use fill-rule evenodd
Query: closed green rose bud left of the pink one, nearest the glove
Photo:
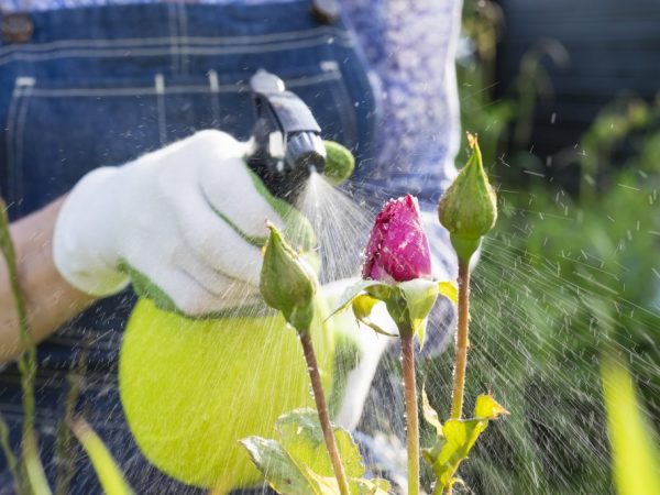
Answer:
<svg viewBox="0 0 660 495"><path fill-rule="evenodd" d="M298 331L308 331L314 317L316 275L311 267L268 223L271 237L264 248L260 289L268 306L282 311Z"/></svg>

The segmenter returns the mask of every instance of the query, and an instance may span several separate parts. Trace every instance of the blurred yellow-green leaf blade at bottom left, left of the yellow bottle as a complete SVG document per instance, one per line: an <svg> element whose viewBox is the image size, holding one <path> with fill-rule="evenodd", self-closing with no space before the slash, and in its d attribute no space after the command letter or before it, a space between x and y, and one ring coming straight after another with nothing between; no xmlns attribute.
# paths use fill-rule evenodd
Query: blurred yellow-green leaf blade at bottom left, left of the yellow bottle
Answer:
<svg viewBox="0 0 660 495"><path fill-rule="evenodd" d="M89 455L99 482L107 495L132 495L133 491L108 451L103 441L84 419L72 424L72 430Z"/></svg>

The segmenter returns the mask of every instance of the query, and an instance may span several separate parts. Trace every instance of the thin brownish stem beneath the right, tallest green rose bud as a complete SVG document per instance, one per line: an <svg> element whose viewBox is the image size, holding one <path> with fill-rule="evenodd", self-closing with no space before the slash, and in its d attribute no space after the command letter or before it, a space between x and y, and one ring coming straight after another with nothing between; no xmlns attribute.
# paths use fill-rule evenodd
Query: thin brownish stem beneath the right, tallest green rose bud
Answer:
<svg viewBox="0 0 660 495"><path fill-rule="evenodd" d="M468 339L470 324L470 263L459 260L459 329L454 361L454 383L451 404L451 418L461 419L463 415L463 388L465 387L465 367L468 366Z"/></svg>

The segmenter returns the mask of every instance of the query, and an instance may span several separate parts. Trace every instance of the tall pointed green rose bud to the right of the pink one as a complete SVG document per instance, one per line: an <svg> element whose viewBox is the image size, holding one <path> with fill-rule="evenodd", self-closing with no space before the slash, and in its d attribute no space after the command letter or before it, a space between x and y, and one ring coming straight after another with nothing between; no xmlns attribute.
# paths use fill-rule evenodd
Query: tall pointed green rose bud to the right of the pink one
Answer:
<svg viewBox="0 0 660 495"><path fill-rule="evenodd" d="M497 220L497 197L482 164L476 138L468 134L472 156L453 184L447 189L438 208L440 223L451 235L459 260L468 262L479 249L481 238Z"/></svg>

